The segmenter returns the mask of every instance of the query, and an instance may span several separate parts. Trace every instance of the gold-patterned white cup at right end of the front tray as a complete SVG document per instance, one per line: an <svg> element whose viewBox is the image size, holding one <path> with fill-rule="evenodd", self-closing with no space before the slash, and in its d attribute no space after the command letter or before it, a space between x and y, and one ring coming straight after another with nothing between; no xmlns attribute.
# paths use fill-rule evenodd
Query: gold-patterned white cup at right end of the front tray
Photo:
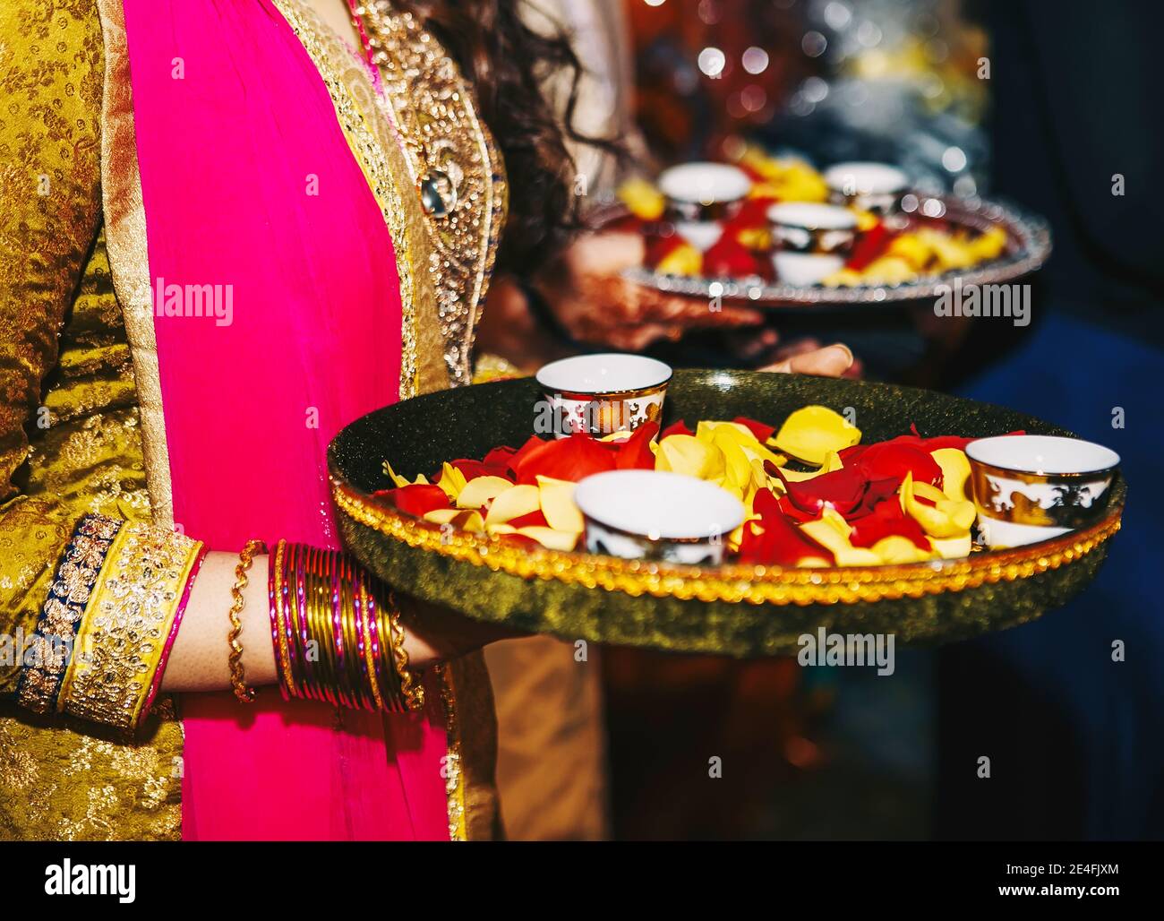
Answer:
<svg viewBox="0 0 1164 921"><path fill-rule="evenodd" d="M1120 455L1078 438L999 435L966 446L978 526L989 547L1017 547L1099 522Z"/></svg>

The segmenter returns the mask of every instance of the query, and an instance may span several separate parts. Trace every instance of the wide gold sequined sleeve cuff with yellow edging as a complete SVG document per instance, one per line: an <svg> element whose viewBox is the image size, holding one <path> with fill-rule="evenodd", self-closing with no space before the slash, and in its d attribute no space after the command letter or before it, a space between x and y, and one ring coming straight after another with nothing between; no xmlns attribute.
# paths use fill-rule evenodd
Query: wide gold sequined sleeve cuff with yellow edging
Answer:
<svg viewBox="0 0 1164 921"><path fill-rule="evenodd" d="M203 544L144 522L113 538L77 630L57 709L125 731L149 709Z"/></svg>

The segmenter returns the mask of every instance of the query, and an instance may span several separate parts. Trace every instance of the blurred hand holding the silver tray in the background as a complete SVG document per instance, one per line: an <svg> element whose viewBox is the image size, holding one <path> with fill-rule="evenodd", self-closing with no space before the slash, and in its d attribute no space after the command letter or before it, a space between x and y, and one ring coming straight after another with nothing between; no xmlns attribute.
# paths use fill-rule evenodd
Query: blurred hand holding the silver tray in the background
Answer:
<svg viewBox="0 0 1164 921"><path fill-rule="evenodd" d="M667 295L623 278L624 269L643 264L644 253L637 233L580 235L539 276L538 291L573 339L623 352L693 330L762 324L757 310Z"/></svg>

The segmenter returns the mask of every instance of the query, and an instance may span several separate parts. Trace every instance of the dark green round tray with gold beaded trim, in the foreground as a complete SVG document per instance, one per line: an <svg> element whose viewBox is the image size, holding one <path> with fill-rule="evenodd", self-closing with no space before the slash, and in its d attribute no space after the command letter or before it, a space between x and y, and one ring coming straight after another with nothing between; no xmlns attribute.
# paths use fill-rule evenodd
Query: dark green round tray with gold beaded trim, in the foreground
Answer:
<svg viewBox="0 0 1164 921"><path fill-rule="evenodd" d="M521 445L540 397L532 380L504 381L409 399L347 426L328 463L349 548L400 590L475 619L567 639L744 657L795 653L797 638L821 626L942 643L1031 621L1095 576L1120 527L1122 480L1102 522L1017 550L900 566L693 567L530 550L442 530L372 495L392 487L385 460L414 477L445 460ZM808 403L852 406L868 441L902 434L910 423L923 434L1071 434L928 390L754 371L679 370L663 416L666 424L736 416L779 421Z"/></svg>

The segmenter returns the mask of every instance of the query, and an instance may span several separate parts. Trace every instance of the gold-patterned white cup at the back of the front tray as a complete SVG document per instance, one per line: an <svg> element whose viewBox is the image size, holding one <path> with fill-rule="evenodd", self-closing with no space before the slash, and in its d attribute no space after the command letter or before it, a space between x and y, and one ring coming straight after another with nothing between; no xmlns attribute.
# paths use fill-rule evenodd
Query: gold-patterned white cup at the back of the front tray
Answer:
<svg viewBox="0 0 1164 921"><path fill-rule="evenodd" d="M538 371L545 392L534 431L566 438L630 432L662 418L672 369L643 355L576 355Z"/></svg>

